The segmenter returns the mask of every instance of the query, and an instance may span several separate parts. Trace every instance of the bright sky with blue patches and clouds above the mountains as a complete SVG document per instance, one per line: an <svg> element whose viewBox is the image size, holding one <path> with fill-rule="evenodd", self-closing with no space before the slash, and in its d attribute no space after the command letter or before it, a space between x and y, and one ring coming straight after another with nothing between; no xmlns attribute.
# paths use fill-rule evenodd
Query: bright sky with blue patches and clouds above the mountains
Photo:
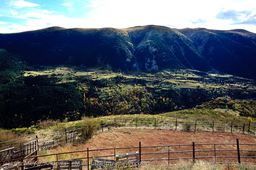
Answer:
<svg viewBox="0 0 256 170"><path fill-rule="evenodd" d="M51 26L245 29L256 33L256 0L1 0L0 33Z"/></svg>

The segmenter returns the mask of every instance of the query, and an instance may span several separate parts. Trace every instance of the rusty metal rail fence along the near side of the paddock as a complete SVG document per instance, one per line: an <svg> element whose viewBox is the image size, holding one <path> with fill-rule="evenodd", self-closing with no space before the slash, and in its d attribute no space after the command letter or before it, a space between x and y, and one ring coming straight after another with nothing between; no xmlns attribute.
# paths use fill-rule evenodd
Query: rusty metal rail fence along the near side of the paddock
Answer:
<svg viewBox="0 0 256 170"><path fill-rule="evenodd" d="M120 152L139 152L140 165L148 167L175 166L180 159L185 159L191 163L196 162L196 160L205 160L205 162L211 161L213 163L256 164L256 144L239 144L238 139L236 139L236 143L195 144L192 142L192 144L158 146L141 146L139 142L139 146L135 147L93 150L87 148L87 150L82 151L27 156L26 158L9 160L9 162L20 161L20 167L23 170L33 159L39 162L51 163L55 163L58 160L82 159L83 166L87 166L89 170L89 166L92 165L92 158L116 159L115 156Z"/></svg>

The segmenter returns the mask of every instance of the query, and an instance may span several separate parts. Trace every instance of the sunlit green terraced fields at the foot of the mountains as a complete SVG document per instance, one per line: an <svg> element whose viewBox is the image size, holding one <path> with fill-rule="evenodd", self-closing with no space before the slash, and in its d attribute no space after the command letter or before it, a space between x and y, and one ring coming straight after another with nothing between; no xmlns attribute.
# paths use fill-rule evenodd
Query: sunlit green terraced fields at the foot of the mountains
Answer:
<svg viewBox="0 0 256 170"><path fill-rule="evenodd" d="M49 70L46 71L26 71L24 76L36 76L36 75L48 75L57 78L61 78L61 82L74 82L78 78L87 78L90 80L96 79L108 79L116 76L122 76L129 79L140 79L144 80L146 86L160 88L160 89L170 89L170 88L195 88L195 87L209 87L214 86L224 87L229 89L239 89L254 91L256 89L255 82L250 79L236 77L230 74L223 74L213 71L204 73L195 70L163 70L163 71L152 71L152 72L118 72L111 71L108 67L91 67L83 68L70 65L58 65L58 66L48 66ZM156 83L158 82L158 83ZM134 83L129 83L125 81L125 88L131 89ZM82 84L86 86L86 84Z"/></svg>

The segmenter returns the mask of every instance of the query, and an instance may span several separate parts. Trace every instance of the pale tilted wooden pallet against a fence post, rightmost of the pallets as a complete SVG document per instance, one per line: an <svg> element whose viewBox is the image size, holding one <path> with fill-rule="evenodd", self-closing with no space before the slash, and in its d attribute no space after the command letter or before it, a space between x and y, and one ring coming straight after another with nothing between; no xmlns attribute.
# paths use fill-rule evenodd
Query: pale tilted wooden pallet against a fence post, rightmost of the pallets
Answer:
<svg viewBox="0 0 256 170"><path fill-rule="evenodd" d="M139 152L124 153L116 155L117 166L139 167Z"/></svg>

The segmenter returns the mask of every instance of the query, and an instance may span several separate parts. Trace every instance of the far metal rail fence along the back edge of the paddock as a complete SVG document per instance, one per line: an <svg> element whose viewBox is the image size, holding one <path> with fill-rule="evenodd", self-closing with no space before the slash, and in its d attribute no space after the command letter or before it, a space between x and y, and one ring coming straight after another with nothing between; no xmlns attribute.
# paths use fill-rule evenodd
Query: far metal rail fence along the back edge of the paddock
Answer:
<svg viewBox="0 0 256 170"><path fill-rule="evenodd" d="M164 128L175 130L211 130L223 132L248 132L255 134L256 125L251 123L197 121L196 119L132 118L117 117L116 127Z"/></svg>

